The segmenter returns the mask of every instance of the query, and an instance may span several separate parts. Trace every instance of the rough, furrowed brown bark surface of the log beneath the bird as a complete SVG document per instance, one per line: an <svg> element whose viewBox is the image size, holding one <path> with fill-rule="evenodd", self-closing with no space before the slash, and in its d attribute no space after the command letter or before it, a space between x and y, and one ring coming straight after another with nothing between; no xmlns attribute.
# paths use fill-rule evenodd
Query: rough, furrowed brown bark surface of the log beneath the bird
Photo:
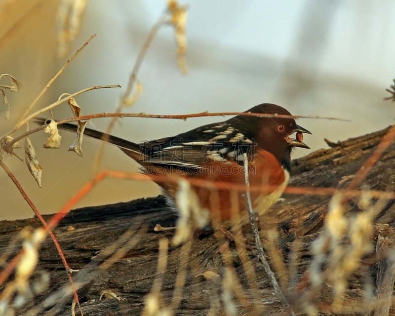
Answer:
<svg viewBox="0 0 395 316"><path fill-rule="evenodd" d="M318 150L307 157L294 160L290 185L345 188L351 181L352 175L362 166L387 130L336 144L329 142L328 144L332 148ZM370 189L386 191L392 187L391 182L393 183L394 179L395 145L393 144L369 172L362 185L368 186ZM284 195L283 199L277 202L266 216L260 218L261 237L265 250L269 251L272 269L276 272L277 278L284 274L278 269L278 257L280 256L288 271L285 275L288 274L289 283L284 279L279 279L279 283L282 287L289 284L288 288L283 288L283 291L298 315L303 314L300 314L302 311L300 297L308 289L308 285L304 284L304 279L312 259L311 244L322 228L329 200L330 197L322 196ZM357 199L352 199L347 206L347 214L352 216L360 211ZM349 304L350 311L335 313L331 310L333 293L328 284L328 289L322 291L317 298L320 305L316 304L316 306L321 307L320 315L361 315L356 307L359 302L364 301L366 279L372 280L371 283L375 288L376 295L382 299L377 308L372 306L371 315L374 313L374 315L380 316L395 315L395 311L391 307L394 259L393 256L388 256L394 240L392 230L394 211L394 200L390 200L375 221L378 223L375 237L375 240L378 240L378 263L376 263L376 253L372 252L370 256L362 260L361 269L353 273L348 280L348 287L343 294L343 304ZM46 216L46 219L49 217ZM105 249L114 244L132 227L137 221L136 218L140 218L137 220L142 220L147 224L147 233L141 236L137 244L123 258L113 262L108 269L97 269L96 266L103 262L100 256L109 257L105 254ZM162 227L174 226L176 220L177 214L165 206L161 196L127 203L85 207L70 212L62 220L54 233L64 250L69 265L75 270L85 267L85 270L73 273L75 279L84 280L84 286L79 289L79 298L85 316L141 314L144 308L144 299L151 291L154 279L157 277L158 241L163 237L171 239L173 236L172 232L154 232L153 229L157 224ZM40 222L37 218L0 222L1 252L23 227L29 225L40 227ZM70 226L74 230L70 229ZM268 237L268 232L272 230L277 232L278 239L275 240L277 240L278 247L277 245L271 247L268 244L268 240L273 239ZM256 274L254 282L259 288L258 297L254 297L249 290L253 286L248 284L247 274L233 242L230 243L229 249L238 281L246 289L248 306L262 307L260 315L276 313L286 315L279 300L273 294L273 287L262 265L256 259L257 251L248 227L243 228L243 234L246 244L249 246L247 248L252 249L247 252ZM217 248L217 239L209 231L203 232L192 241L186 265L185 286L180 305L175 311L176 315L207 315L210 309L211 315L226 315L223 310L222 296L222 277L225 264L223 255L213 256ZM299 257L296 266L290 264L292 249L298 253L298 256L294 255L294 257ZM182 250L182 247L172 247L171 244L169 246L166 271L161 275L162 306L170 304L172 300ZM16 251L17 249L13 253ZM93 257L96 259L92 263ZM89 262L91 262L91 267L86 268ZM41 246L39 269L47 270L50 273L50 286L43 294L36 296L17 311L17 315L23 315L33 306L40 306L48 296L68 284L68 277L62 261L50 238L47 238ZM215 272L220 277L206 280L202 276L197 276L206 271ZM84 276L79 276L81 274ZM100 294L106 290L116 293L121 300L104 297L99 300ZM58 315L71 315L72 296L69 295L66 298L67 300L57 299L55 307L52 304L52 306L46 306L44 310L46 312L51 310L51 313ZM244 315L251 311L248 307L242 306L237 299L233 301L237 315ZM215 309L216 305L218 305L217 310ZM258 314L259 309L255 308L254 311L254 314ZM76 312L79 315L78 309Z"/></svg>

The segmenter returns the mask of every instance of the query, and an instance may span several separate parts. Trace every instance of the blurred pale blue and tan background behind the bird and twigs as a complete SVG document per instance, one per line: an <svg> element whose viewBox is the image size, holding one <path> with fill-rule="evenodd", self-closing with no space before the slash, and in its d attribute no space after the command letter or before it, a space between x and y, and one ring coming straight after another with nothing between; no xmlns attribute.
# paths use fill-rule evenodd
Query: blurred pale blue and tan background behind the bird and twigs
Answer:
<svg viewBox="0 0 395 316"><path fill-rule="evenodd" d="M183 0L180 4L188 6L188 74L182 75L177 67L173 28L163 26L138 73L144 88L141 97L124 112L241 112L269 102L294 115L352 120L298 120L313 132L305 137L312 151L327 147L324 137L336 142L394 123L394 105L383 101L390 95L385 89L395 77L394 1ZM48 80L92 34L96 38L35 109L55 102L65 92L120 84L122 88L93 90L76 98L84 115L114 112L137 54L166 5L164 0L0 0L0 74L10 74L23 84L19 93L6 92L11 110L8 120L6 107L0 103L1 135L11 130ZM59 35L67 30L70 39L59 44ZM59 58L59 49L64 49L64 57ZM72 117L67 104L54 114L56 119ZM138 142L222 119L124 118L112 133ZM93 127L89 123L87 127L105 130L109 121L96 119ZM23 126L14 136L25 130ZM25 162L9 155L5 159L41 213L59 210L94 174L100 142L84 138L81 158L67 151L75 135L64 131L61 135L57 150L42 147L49 136L42 131L30 137L43 168L42 188ZM309 152L298 149L294 158ZM24 156L23 149L17 153ZM117 148L106 146L100 166L104 168L136 172L138 164ZM154 183L106 179L78 206L158 193ZM0 197L0 219L34 215L2 170Z"/></svg>

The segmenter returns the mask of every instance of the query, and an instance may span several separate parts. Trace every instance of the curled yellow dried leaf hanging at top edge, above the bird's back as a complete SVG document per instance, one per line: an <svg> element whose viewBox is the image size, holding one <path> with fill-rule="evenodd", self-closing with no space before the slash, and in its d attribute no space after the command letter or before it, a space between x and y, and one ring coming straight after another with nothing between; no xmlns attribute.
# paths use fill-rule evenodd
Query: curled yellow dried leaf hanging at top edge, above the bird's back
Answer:
<svg viewBox="0 0 395 316"><path fill-rule="evenodd" d="M188 68L185 64L185 53L187 51L187 38L185 36L185 28L187 25L188 11L187 7L180 5L177 1L169 0L167 8L171 14L170 24L173 25L176 41L177 41L177 63L178 68L182 74L188 73Z"/></svg>

